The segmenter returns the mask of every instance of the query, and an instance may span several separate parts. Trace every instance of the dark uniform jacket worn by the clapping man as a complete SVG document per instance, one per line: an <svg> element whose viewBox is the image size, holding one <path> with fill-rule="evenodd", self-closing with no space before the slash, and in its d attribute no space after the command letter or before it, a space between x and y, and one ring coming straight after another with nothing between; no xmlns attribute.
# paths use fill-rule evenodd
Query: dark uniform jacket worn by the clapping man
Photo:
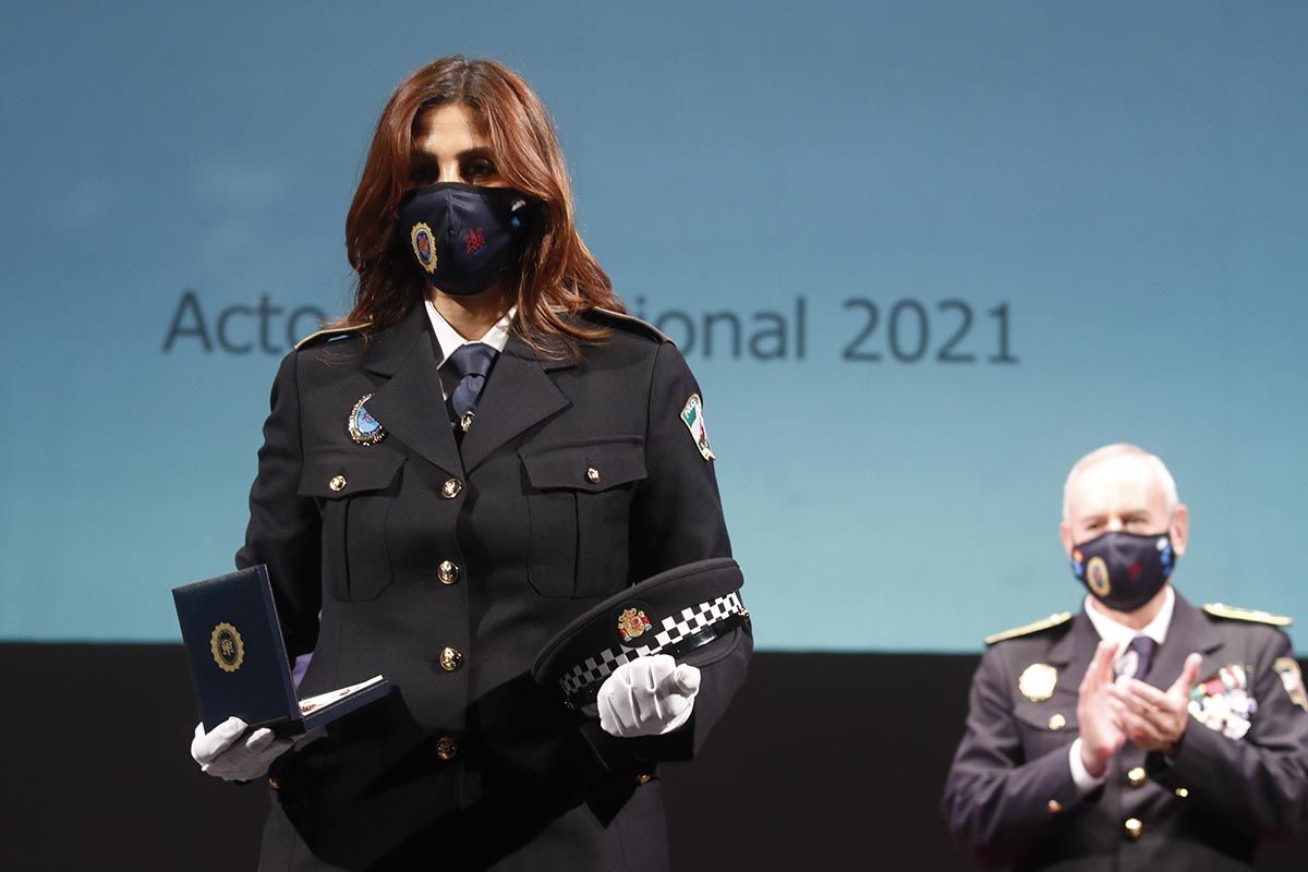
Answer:
<svg viewBox="0 0 1308 872"><path fill-rule="evenodd" d="M972 859L1015 869L1250 869L1260 838L1304 824L1308 710L1282 680L1299 675L1284 633L1207 614L1177 595L1146 680L1167 689L1192 651L1203 655L1201 681L1240 665L1257 702L1250 727L1232 739L1192 716L1175 760L1127 744L1103 787L1080 797L1069 750L1099 634L1084 612L1044 624L990 647L972 681L943 800L946 822ZM1031 694L1019 690L1032 664L1057 671L1052 693Z"/></svg>

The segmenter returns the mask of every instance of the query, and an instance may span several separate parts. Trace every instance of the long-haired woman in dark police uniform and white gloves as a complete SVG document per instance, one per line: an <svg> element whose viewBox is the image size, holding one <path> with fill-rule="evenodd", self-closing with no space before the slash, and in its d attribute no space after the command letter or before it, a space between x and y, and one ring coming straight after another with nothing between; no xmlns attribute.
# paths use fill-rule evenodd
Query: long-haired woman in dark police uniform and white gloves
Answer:
<svg viewBox="0 0 1308 872"><path fill-rule="evenodd" d="M237 719L192 756L268 775L262 869L663 869L653 767L693 756L744 679L620 667L600 724L528 676L624 586L730 553L700 388L619 314L549 118L443 58L382 112L347 221L353 311L272 388L238 566L267 563L301 694L396 688L290 743ZM471 340L471 341L470 341Z"/></svg>

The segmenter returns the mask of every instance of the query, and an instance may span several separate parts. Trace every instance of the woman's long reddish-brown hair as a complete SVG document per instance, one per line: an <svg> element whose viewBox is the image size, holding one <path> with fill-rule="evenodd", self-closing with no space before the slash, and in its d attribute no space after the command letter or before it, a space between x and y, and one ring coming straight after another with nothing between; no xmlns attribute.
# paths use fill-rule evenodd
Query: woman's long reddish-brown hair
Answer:
<svg viewBox="0 0 1308 872"><path fill-rule="evenodd" d="M568 318L591 306L623 311L623 305L577 233L572 186L549 114L511 69L463 56L439 58L404 80L377 123L345 220L345 248L358 275L348 320L371 322L381 329L403 319L428 293L396 233L395 212L413 187L417 118L447 103L472 110L500 176L540 204L540 231L527 243L518 267L519 331L538 349L556 346L559 340L570 345L603 337L604 331Z"/></svg>

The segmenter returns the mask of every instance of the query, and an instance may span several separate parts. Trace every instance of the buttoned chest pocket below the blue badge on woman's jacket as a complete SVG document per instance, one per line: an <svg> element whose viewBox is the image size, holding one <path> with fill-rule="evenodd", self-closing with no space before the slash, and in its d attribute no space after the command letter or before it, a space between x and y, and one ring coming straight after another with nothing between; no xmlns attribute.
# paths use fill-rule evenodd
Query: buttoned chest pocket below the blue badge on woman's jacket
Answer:
<svg viewBox="0 0 1308 872"><path fill-rule="evenodd" d="M322 509L323 584L337 600L377 599L391 583L386 516L403 455L318 451L305 456L300 494Z"/></svg>

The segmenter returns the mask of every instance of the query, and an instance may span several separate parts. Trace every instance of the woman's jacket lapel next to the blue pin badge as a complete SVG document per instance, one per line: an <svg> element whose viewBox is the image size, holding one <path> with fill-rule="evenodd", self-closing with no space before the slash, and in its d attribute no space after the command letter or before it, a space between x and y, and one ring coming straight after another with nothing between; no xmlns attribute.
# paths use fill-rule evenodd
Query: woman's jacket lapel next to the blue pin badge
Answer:
<svg viewBox="0 0 1308 872"><path fill-rule="evenodd" d="M365 366L387 380L373 392L368 411L396 439L446 472L462 475L430 331L426 309L419 305L373 340Z"/></svg>

